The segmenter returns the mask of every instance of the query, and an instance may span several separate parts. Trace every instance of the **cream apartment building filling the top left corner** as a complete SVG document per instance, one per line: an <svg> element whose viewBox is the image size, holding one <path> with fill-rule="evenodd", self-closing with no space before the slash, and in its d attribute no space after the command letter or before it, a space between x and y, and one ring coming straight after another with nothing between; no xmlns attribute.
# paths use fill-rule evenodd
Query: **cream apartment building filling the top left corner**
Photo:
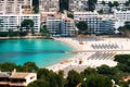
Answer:
<svg viewBox="0 0 130 87"><path fill-rule="evenodd" d="M22 14L30 10L32 0L0 0L0 14Z"/></svg>

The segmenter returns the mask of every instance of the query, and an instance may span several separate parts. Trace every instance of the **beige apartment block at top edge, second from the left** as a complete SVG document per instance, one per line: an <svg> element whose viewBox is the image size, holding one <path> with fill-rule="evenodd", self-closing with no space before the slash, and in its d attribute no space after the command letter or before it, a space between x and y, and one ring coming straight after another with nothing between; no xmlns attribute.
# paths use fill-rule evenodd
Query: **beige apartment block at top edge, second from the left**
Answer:
<svg viewBox="0 0 130 87"><path fill-rule="evenodd" d="M60 0L39 0L40 12L54 12L60 10Z"/></svg>

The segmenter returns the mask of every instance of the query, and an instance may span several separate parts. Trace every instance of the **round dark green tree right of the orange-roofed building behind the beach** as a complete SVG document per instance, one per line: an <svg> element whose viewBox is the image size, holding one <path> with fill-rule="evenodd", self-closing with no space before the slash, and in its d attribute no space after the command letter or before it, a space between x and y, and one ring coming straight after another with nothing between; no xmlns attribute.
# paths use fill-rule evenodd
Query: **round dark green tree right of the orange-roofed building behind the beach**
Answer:
<svg viewBox="0 0 130 87"><path fill-rule="evenodd" d="M77 28L79 29L79 34L86 34L88 33L88 25L87 22L80 21L76 24Z"/></svg>

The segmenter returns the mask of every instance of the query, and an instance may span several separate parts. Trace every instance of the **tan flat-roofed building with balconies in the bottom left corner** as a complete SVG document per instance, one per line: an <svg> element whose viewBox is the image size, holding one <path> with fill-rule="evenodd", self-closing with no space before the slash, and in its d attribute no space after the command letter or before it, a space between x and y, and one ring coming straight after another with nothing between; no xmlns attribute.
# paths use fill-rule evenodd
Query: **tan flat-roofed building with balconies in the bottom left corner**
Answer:
<svg viewBox="0 0 130 87"><path fill-rule="evenodd" d="M0 87L26 87L36 79L36 73L0 72Z"/></svg>

